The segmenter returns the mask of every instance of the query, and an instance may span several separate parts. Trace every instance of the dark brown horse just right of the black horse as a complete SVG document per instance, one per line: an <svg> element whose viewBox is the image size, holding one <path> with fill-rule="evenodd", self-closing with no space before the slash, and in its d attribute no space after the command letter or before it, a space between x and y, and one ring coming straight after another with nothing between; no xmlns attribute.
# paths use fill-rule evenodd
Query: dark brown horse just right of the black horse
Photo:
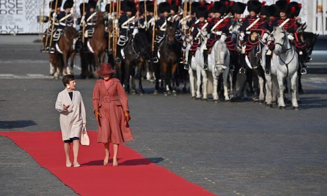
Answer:
<svg viewBox="0 0 327 196"><path fill-rule="evenodd" d="M174 95L176 92L176 70L178 68L178 58L180 56L180 45L175 40L176 27L173 22L167 21L166 36L162 44L160 45L160 67L161 67L161 79L165 84L165 95L171 94L171 90ZM156 83L158 78L156 77Z"/></svg>

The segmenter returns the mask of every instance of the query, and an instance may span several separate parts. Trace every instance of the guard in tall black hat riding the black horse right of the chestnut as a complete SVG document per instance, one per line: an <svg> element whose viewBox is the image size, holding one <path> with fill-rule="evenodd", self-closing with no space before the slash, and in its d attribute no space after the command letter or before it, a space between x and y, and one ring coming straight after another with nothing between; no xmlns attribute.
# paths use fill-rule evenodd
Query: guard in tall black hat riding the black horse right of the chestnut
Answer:
<svg viewBox="0 0 327 196"><path fill-rule="evenodd" d="M130 0L125 0L124 4L122 4L122 9L125 12L121 17L116 19L115 28L118 28L120 30L118 42L117 42L117 51L121 53L122 57L124 58L124 51L123 48L125 47L127 41L129 40L129 37L135 36L138 33L138 22L137 18L135 16L137 10L136 10L136 5L134 2ZM118 55L115 59L116 63L120 63L120 55Z"/></svg>

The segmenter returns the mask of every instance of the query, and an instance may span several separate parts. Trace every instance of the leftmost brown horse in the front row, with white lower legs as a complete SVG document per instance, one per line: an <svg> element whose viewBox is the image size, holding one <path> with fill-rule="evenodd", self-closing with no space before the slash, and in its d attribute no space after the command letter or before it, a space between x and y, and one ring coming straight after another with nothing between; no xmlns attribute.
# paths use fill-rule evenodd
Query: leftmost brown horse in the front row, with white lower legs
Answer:
<svg viewBox="0 0 327 196"><path fill-rule="evenodd" d="M63 75L72 74L74 75L74 58L76 55L75 45L78 39L78 31L73 27L66 27L62 35L60 36L57 44L56 51L62 54L63 58ZM70 59L71 68L68 67L68 57ZM55 70L59 67L55 66Z"/></svg>

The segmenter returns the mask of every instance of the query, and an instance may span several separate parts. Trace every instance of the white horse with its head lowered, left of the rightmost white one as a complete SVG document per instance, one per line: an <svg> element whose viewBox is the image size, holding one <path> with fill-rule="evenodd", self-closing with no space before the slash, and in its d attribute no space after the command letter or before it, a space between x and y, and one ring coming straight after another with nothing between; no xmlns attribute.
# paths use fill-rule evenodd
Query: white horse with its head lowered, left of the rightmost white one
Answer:
<svg viewBox="0 0 327 196"><path fill-rule="evenodd" d="M216 43L213 45L211 54L208 56L208 70L212 73L213 76L213 83L214 83L214 89L213 89L213 98L214 102L219 101L218 97L218 78L222 74L223 75L223 85L224 85L224 96L225 101L230 101L228 96L228 89L227 89L227 80L229 75L229 62L230 62L230 55L229 50L227 48L227 45L225 43L226 36L222 35L219 41L216 41ZM203 78L206 78L206 72L202 75ZM232 81L230 78L230 91L232 91ZM207 81L204 80L203 81ZM206 84L204 83L204 88L206 88ZM206 99L206 89L203 90L203 99Z"/></svg>

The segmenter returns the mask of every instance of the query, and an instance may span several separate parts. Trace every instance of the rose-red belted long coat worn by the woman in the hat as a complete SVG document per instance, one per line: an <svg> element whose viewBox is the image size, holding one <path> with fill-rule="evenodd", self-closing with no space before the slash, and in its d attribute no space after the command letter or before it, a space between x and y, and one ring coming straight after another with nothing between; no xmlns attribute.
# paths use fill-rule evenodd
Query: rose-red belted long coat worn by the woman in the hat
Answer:
<svg viewBox="0 0 327 196"><path fill-rule="evenodd" d="M124 111L129 111L127 95L118 79L111 80L108 89L103 79L96 82L92 104L94 111L98 110L102 116L98 123L98 142L119 144L134 138L124 117Z"/></svg>

